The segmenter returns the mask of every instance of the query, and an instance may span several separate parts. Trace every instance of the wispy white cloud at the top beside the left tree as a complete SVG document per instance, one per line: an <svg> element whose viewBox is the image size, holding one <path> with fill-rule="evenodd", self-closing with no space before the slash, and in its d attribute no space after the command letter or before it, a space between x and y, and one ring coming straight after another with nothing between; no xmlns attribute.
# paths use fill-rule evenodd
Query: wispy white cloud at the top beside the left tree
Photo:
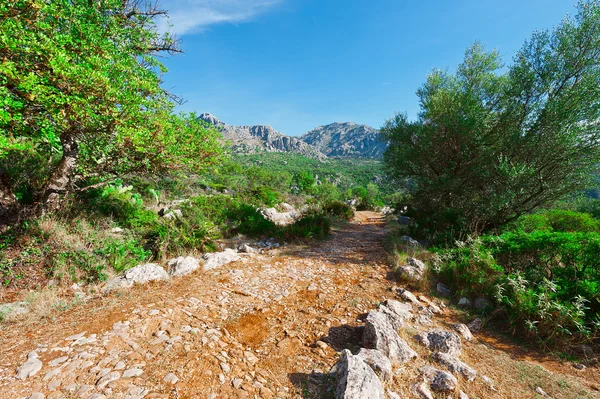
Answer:
<svg viewBox="0 0 600 399"><path fill-rule="evenodd" d="M159 22L162 31L178 35L195 33L210 25L253 19L284 0L169 0L162 7L169 18Z"/></svg>

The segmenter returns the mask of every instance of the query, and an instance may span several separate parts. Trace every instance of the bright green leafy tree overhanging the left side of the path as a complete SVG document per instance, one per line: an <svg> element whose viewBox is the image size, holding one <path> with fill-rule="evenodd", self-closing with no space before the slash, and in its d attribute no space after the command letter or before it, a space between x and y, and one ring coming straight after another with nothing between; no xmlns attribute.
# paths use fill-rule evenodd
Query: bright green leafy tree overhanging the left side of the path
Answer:
<svg viewBox="0 0 600 399"><path fill-rule="evenodd" d="M217 133L161 88L165 12L145 0L0 2L0 201L54 202L90 177L202 168Z"/></svg>

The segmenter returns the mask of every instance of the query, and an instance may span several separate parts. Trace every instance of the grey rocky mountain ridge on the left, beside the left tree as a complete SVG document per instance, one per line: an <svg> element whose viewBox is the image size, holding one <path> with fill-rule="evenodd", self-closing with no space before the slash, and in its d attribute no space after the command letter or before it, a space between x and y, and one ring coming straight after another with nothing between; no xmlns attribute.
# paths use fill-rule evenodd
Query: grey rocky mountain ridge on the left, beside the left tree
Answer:
<svg viewBox="0 0 600 399"><path fill-rule="evenodd" d="M314 159L326 158L323 153L310 144L279 133L271 126L231 126L209 113L203 113L200 115L200 119L218 127L223 138L231 142L233 150L237 153L291 152Z"/></svg>

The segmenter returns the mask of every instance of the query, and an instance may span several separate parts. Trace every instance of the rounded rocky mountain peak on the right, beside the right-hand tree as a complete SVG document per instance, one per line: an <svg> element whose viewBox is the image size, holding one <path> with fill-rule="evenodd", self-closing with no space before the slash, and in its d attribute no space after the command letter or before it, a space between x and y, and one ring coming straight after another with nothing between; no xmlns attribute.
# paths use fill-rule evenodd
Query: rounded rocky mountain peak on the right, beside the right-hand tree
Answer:
<svg viewBox="0 0 600 399"><path fill-rule="evenodd" d="M387 148L379 131L352 122L319 126L299 138L329 157L381 158Z"/></svg>

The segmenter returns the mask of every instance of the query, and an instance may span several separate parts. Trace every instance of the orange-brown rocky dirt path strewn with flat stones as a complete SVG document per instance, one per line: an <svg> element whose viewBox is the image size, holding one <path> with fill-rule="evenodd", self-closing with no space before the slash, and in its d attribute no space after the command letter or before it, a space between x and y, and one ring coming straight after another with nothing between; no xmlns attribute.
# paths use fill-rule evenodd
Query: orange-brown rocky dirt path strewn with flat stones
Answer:
<svg viewBox="0 0 600 399"><path fill-rule="evenodd" d="M341 350L359 346L361 317L398 295L385 232L378 214L363 212L314 246L101 296L43 324L5 326L0 398L331 398L330 371ZM454 322L443 313L435 325ZM419 359L386 383L403 397L430 362L412 338L432 322L422 324L401 334ZM490 337L465 343L463 360L496 381L465 385L471 398L534 398L541 385L557 398L598 394L597 369L544 368Z"/></svg>

